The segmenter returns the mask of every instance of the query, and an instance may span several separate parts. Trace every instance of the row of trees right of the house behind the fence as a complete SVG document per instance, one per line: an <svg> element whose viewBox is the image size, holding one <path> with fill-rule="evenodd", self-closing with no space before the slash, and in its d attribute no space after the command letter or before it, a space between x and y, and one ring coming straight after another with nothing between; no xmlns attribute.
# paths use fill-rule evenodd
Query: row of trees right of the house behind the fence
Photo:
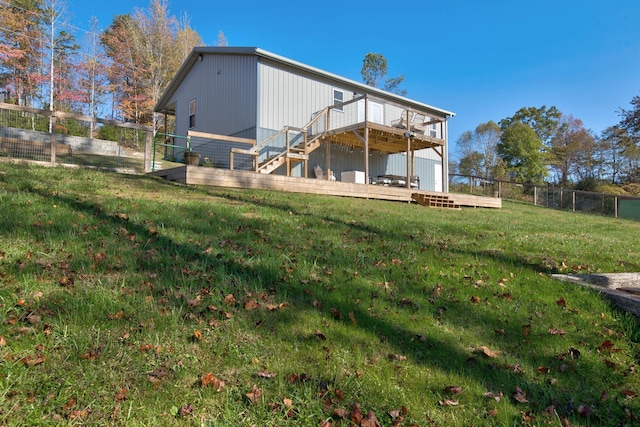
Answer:
<svg viewBox="0 0 640 427"><path fill-rule="evenodd" d="M595 135L555 106L523 107L460 135L462 157L452 166L463 175L591 191L640 183L640 96L619 117Z"/></svg>

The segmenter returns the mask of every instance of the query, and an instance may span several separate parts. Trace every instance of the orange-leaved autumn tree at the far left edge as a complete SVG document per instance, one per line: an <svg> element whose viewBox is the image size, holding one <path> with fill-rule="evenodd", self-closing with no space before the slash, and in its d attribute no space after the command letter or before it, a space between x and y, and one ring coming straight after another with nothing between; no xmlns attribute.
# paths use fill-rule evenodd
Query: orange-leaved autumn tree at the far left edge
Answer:
<svg viewBox="0 0 640 427"><path fill-rule="evenodd" d="M0 87L5 100L33 105L44 80L42 49L43 0L0 3Z"/></svg>

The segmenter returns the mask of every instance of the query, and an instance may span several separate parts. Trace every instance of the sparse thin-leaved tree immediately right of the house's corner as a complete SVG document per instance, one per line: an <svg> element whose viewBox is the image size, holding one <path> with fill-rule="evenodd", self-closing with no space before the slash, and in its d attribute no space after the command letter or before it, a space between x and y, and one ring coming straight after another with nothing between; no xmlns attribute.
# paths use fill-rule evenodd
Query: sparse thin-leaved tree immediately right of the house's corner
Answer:
<svg viewBox="0 0 640 427"><path fill-rule="evenodd" d="M478 176L488 178L493 175L493 168L498 161L497 146L501 133L500 126L490 120L487 123L479 124L473 132L462 133L458 138L457 145L461 148L464 156L473 154L473 159L479 162L480 168L476 168Z"/></svg>

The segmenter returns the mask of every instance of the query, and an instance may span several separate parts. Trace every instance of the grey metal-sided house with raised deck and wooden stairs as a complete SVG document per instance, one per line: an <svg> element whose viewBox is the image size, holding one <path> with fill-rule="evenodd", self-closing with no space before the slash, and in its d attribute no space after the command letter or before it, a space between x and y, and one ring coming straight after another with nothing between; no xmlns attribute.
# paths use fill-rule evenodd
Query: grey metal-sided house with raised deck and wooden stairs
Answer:
<svg viewBox="0 0 640 427"><path fill-rule="evenodd" d="M448 190L454 113L259 48L196 47L155 111L218 168Z"/></svg>

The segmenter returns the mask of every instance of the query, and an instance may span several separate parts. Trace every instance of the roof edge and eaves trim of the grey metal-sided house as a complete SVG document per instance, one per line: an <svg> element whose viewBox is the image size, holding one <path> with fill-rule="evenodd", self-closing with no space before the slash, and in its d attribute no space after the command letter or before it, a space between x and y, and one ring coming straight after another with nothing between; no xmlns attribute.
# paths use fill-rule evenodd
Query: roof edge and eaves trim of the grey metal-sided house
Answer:
<svg viewBox="0 0 640 427"><path fill-rule="evenodd" d="M406 97L403 97L403 96L400 96L400 95L396 95L394 93L387 92L387 91L384 91L382 89L375 88L373 86L368 86L368 85L366 85L364 83L356 82L355 80L347 79L345 77L338 76L337 74L329 73L329 72L321 70L319 68L315 68L315 67L303 64L301 62L294 61L294 60L289 59L289 58L285 58L284 56L280 56L280 55L277 55L275 53L271 53L271 52L268 52L266 50L263 50L263 49L260 49L260 48L257 48L257 47L230 47L230 46L216 46L216 47L202 46L202 47L195 47L191 51L191 53L189 54L189 56L187 57L185 62L182 64L182 66L180 67L180 69L176 73L176 75L173 78L173 80L171 80L171 83L169 83L169 86L167 87L167 89L164 91L164 93L160 97L160 100L156 104L156 106L154 108L154 111L162 112L164 109L166 109L168 107L167 103L169 102L169 99L171 99L171 96L177 90L178 86L180 86L180 84L184 80L185 76L189 73L189 70L191 69L191 67L193 67L193 65L198 61L198 57L201 54L202 55L207 55L207 54L213 54L213 55L255 55L255 56L259 57L259 58L264 58L266 60L269 60L269 61L272 61L272 62L276 62L276 63L285 65L285 66L290 67L290 68L298 69L298 70L304 71L304 72L312 74L312 75L316 75L316 76L323 77L323 78L328 79L328 80L332 80L332 81L334 81L334 82L336 82L338 84L341 84L343 86L353 88L354 90L357 90L359 93L361 92L362 94L371 94L371 95L377 96L379 98L383 98L383 99L395 102L395 103L400 104L402 106L410 106L412 108L423 110L423 111L431 111L431 112L433 112L435 114L442 115L442 116L445 116L445 117L446 116L451 116L451 117L455 116L455 113L453 113L451 111L443 110L441 108L437 108L437 107L434 107L434 106L431 106L431 105L428 105L428 104L424 104L422 102L415 101L415 100L412 100L412 99L409 99L409 98L406 98Z"/></svg>

